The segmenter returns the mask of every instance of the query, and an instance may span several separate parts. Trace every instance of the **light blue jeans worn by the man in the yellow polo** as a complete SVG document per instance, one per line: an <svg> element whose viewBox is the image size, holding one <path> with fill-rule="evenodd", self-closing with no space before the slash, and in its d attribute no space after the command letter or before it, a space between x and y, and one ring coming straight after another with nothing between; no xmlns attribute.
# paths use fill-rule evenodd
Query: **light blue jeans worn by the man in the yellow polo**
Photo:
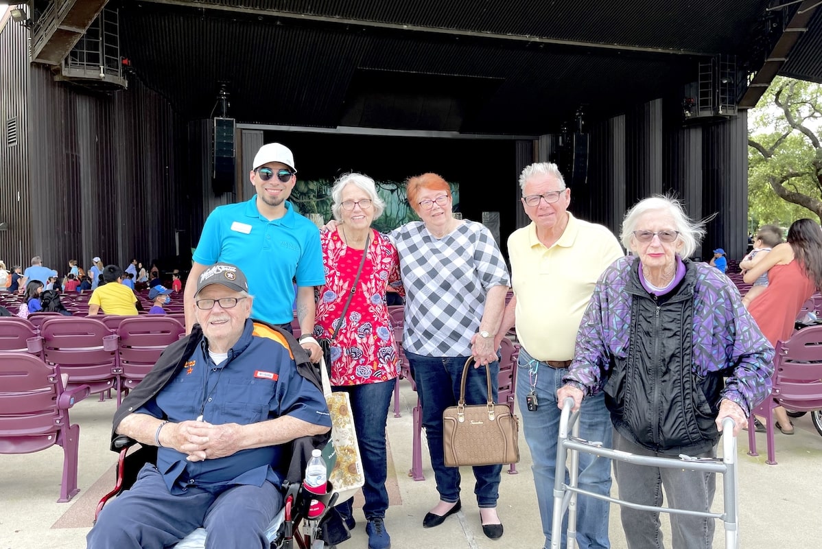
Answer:
<svg viewBox="0 0 822 549"><path fill-rule="evenodd" d="M556 390L562 385L567 368L552 368L533 358L520 348L516 375L516 398L522 413L525 441L531 450L533 483L537 490L539 516L543 521L545 547L551 546L551 523L554 511L554 473L556 471L556 438L559 436L560 413L556 407ZM529 412L525 395L531 390L530 370L537 367L536 387L538 407ZM602 441L612 448L613 427L605 408L603 394L586 397L580 413L580 437L587 441ZM566 471L566 482L569 482ZM580 453L579 486L598 494L611 493L611 460ZM610 504L593 497L577 499L576 540L580 549L611 547L608 541ZM566 547L567 515L562 521L561 547Z"/></svg>

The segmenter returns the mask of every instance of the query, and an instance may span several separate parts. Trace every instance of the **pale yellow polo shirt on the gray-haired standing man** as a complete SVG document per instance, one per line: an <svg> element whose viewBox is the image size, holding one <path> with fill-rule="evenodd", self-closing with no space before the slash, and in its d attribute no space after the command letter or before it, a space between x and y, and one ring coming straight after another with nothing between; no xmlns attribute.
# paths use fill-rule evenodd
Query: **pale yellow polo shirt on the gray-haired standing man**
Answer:
<svg viewBox="0 0 822 549"><path fill-rule="evenodd" d="M576 332L608 265L623 256L613 233L602 225L576 219L547 248L533 223L508 238L511 284L516 296L516 334L537 360L574 358Z"/></svg>

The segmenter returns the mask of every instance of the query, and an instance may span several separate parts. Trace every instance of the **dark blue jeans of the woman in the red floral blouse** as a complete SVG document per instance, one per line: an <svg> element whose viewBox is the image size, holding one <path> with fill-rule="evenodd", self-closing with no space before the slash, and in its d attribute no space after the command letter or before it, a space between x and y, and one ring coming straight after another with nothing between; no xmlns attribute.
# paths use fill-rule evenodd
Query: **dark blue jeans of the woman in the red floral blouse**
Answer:
<svg viewBox="0 0 822 549"><path fill-rule="evenodd" d="M395 381L342 385L334 390L345 391L351 399L351 413L360 456L363 458L363 514L367 520L384 519L388 509L388 453L386 451L386 420ZM339 513L351 516L353 498L338 505Z"/></svg>

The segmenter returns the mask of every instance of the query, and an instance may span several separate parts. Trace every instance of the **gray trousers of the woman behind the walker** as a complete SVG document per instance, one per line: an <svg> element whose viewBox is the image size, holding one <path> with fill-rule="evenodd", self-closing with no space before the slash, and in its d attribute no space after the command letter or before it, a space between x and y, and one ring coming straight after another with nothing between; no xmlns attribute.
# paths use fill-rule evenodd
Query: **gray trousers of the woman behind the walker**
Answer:
<svg viewBox="0 0 822 549"><path fill-rule="evenodd" d="M633 444L614 430L614 449L637 455L670 457ZM692 457L713 457L716 448ZM716 475L628 464L614 461L614 477L621 500L641 505L662 505L663 487L667 505L676 509L708 511L716 492ZM659 513L621 507L622 529L629 549L663 549ZM715 520L687 514L671 514L673 549L711 549Z"/></svg>

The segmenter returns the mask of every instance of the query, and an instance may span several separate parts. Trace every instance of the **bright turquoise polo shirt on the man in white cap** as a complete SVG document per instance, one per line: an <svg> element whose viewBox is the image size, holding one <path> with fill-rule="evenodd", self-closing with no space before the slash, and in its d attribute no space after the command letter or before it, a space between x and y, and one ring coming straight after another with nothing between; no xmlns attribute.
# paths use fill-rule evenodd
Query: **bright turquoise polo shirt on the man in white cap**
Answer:
<svg viewBox="0 0 822 549"><path fill-rule="evenodd" d="M256 297L252 317L271 324L293 319L298 286L326 284L320 230L285 201L286 213L269 221L250 201L221 205L205 219L193 259L201 265L218 261L237 265Z"/></svg>

